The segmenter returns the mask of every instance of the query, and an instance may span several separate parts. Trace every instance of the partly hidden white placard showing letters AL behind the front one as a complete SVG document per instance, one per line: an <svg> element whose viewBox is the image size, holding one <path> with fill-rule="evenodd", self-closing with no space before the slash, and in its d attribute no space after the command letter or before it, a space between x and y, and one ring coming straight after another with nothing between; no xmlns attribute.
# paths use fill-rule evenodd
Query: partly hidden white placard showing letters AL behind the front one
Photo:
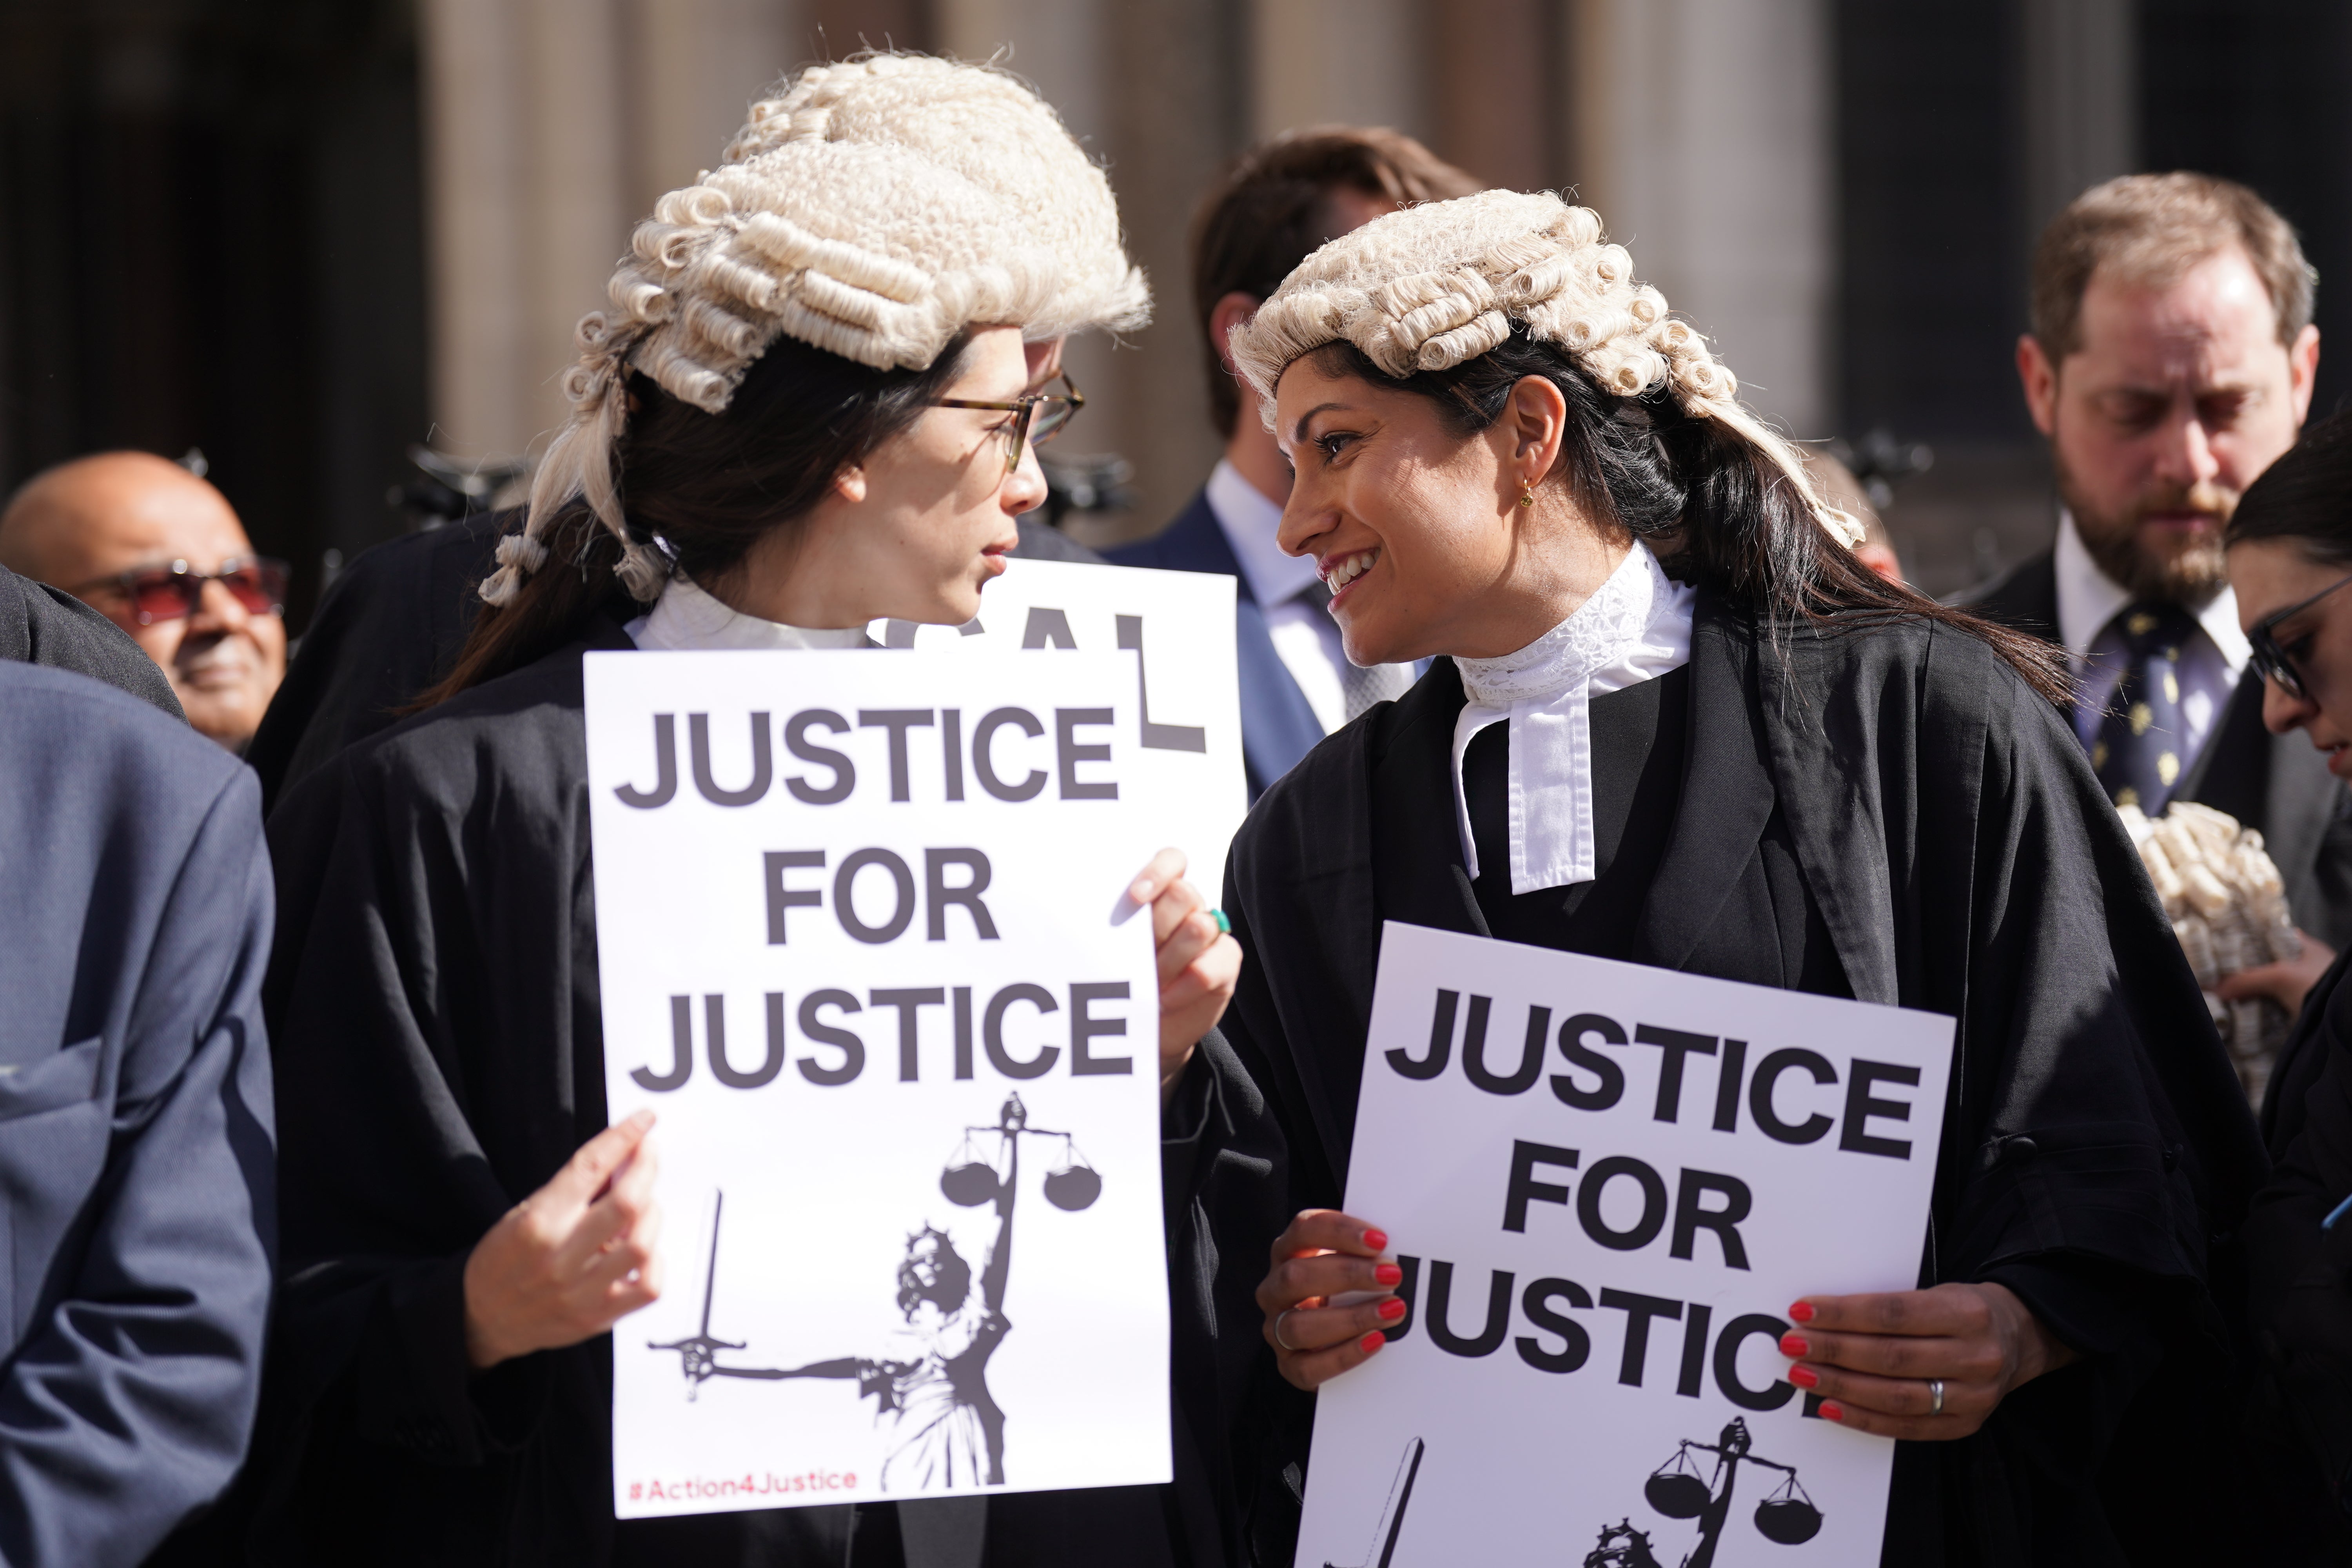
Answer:
<svg viewBox="0 0 2352 1568"><path fill-rule="evenodd" d="M1136 682L1136 743L1150 766L1129 804L1185 851L1211 903L1225 844L1249 811L1230 576L1014 557L967 625L882 621L875 637L924 651L1025 649L1115 658Z"/></svg>

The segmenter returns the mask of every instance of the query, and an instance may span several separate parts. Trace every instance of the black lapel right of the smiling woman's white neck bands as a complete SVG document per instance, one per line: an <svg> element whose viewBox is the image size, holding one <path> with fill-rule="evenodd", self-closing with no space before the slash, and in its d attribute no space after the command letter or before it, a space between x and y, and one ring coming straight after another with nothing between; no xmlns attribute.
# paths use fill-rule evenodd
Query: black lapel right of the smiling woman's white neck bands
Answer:
<svg viewBox="0 0 2352 1568"><path fill-rule="evenodd" d="M1771 820L1773 778L1755 717L1748 630L1710 592L1691 625L1691 736L1675 835L1642 905L1635 959L1682 969L1748 870Z"/></svg>

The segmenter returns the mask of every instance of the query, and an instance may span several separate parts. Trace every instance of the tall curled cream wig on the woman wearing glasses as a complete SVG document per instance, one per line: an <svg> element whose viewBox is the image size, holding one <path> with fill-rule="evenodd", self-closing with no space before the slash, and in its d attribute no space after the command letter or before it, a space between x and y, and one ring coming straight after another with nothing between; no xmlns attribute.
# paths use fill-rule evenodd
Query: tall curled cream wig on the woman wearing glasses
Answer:
<svg viewBox="0 0 2352 1568"><path fill-rule="evenodd" d="M546 564L548 524L576 501L621 543L621 585L661 592L668 562L630 538L614 482L630 371L720 414L779 336L929 369L969 327L1035 341L1150 313L1110 183L1061 118L1004 71L922 54L811 66L753 103L724 162L637 226L609 294L581 317L572 418L522 534L499 541L489 604Z"/></svg>

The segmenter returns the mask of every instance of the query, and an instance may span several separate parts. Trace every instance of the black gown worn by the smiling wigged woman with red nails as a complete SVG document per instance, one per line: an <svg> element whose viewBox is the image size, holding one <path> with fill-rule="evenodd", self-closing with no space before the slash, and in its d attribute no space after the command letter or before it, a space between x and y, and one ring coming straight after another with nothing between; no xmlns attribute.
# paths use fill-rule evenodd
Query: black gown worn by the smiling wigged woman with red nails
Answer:
<svg viewBox="0 0 2352 1568"><path fill-rule="evenodd" d="M1341 1206L1381 919L1402 919L1955 1016L1919 1279L2006 1284L2084 1359L1971 1439L1900 1446L1884 1561L2176 1561L2204 1540L2201 1561L2232 1561L2232 1500L2192 1481L2232 1399L2209 1281L2263 1154L2051 705L1962 632L1766 639L1703 592L1691 663L1592 703L1606 867L1526 898L1501 837L1491 877L1463 870L1461 705L1439 663L1275 785L1228 863L1249 964L1221 1048L1249 1086L1202 1150L1190 1222L1214 1265L1237 1554L1289 1563L1312 1420L1249 1293L1291 1213ZM1465 766L1486 835L1505 745L1484 731ZM1597 1526L1578 1523L1562 1561ZM1472 1561L1477 1542L1461 1547Z"/></svg>

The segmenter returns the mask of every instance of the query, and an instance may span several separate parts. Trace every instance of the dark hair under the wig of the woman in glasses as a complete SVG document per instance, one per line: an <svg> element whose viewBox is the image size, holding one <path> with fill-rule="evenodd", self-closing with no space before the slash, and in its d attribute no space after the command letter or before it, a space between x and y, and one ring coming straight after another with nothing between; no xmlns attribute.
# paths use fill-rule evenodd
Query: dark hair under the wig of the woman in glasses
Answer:
<svg viewBox="0 0 2352 1568"><path fill-rule="evenodd" d="M635 400L614 451L614 482L630 538L654 541L673 567L708 583L750 548L804 517L833 477L913 425L957 376L967 336L929 369L873 369L779 336L722 414L706 414L630 374ZM546 529L548 562L501 607L482 607L447 679L416 708L553 654L597 609L637 614L614 578L621 543L583 501Z"/></svg>

